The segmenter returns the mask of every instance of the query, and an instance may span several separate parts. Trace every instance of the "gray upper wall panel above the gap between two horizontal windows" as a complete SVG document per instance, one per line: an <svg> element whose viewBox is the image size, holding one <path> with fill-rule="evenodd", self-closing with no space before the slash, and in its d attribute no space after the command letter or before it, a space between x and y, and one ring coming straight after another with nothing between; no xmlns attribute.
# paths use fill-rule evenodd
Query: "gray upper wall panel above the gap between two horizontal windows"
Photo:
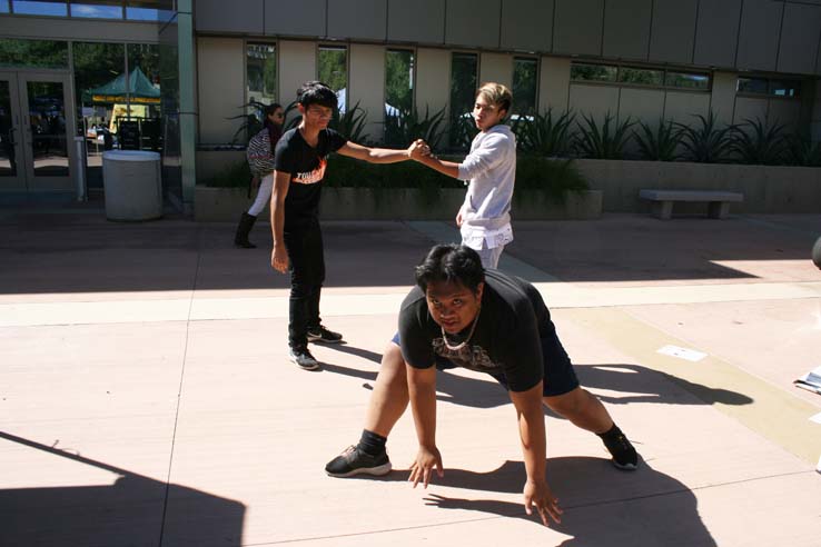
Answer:
<svg viewBox="0 0 821 547"><path fill-rule="evenodd" d="M734 67L742 0L706 0L699 4L693 62Z"/></svg>

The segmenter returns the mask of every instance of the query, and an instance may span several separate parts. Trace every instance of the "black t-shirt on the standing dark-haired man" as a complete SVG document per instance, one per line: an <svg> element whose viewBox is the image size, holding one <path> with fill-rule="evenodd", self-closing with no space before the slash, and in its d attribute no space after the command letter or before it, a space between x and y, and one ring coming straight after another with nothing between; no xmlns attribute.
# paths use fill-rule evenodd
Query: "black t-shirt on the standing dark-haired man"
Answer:
<svg viewBox="0 0 821 547"><path fill-rule="evenodd" d="M328 155L345 146L347 139L333 129L319 131L316 148L305 142L298 128L286 131L274 152L274 168L290 173L285 198L285 225L316 220L319 215L320 182L325 178Z"/></svg>

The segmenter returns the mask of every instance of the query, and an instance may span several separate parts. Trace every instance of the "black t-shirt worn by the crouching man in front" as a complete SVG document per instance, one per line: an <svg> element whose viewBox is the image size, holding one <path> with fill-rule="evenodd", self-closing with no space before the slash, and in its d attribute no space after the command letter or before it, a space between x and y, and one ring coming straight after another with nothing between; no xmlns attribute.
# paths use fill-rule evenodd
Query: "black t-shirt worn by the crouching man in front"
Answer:
<svg viewBox="0 0 821 547"><path fill-rule="evenodd" d="M399 311L399 344L408 365L429 368L436 356L444 357L459 367L504 376L511 391L526 391L542 381L541 340L553 329L538 290L524 279L496 270L485 272L478 322L459 350L445 346L442 328L431 317L418 287L407 295ZM462 342L469 331L468 326L459 335L448 335L449 345Z"/></svg>

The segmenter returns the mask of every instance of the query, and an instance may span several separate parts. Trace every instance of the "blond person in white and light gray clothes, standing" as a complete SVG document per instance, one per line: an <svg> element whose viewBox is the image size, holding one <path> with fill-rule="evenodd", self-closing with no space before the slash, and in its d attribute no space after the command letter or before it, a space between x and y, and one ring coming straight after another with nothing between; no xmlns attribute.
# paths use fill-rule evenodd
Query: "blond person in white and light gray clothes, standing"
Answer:
<svg viewBox="0 0 821 547"><path fill-rule="evenodd" d="M516 137L504 119L513 95L506 86L484 83L476 92L473 118L479 133L462 161L443 161L419 147L413 158L455 179L468 181L465 201L456 215L462 245L474 249L482 266L498 267L505 246L513 241L511 200L516 179Z"/></svg>

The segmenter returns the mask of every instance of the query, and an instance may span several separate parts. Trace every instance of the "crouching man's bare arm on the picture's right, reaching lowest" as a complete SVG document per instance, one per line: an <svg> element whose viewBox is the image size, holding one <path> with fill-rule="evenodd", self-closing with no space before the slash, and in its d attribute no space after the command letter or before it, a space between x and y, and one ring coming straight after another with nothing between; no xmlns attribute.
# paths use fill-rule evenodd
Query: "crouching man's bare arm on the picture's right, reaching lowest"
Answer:
<svg viewBox="0 0 821 547"><path fill-rule="evenodd" d="M527 471L527 483L523 491L525 511L531 515L535 507L545 526L550 526L551 518L561 523L562 509L545 476L547 441L542 407L542 382L540 381L527 391L511 391L510 394L516 407L518 435L522 439L522 451Z"/></svg>

